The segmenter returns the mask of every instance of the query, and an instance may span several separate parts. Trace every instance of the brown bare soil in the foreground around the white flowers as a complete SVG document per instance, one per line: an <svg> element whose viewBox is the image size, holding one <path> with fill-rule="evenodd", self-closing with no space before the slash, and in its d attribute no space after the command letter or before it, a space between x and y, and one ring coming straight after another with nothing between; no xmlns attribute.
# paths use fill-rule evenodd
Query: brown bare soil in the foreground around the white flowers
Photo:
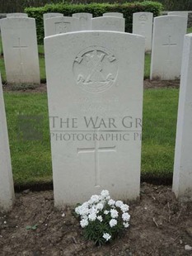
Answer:
<svg viewBox="0 0 192 256"><path fill-rule="evenodd" d="M82 237L73 207L54 209L52 191L17 193L13 210L0 213L0 255L192 255L185 249L192 246L192 202L177 201L171 187L143 183L140 201L128 203L129 229L96 247ZM26 229L35 224L36 230Z"/></svg>

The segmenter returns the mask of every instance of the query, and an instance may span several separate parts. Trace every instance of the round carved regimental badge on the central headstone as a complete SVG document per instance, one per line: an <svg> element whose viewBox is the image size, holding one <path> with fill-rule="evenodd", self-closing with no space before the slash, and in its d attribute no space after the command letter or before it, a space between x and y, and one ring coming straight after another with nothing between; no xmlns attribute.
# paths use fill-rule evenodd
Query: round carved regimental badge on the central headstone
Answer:
<svg viewBox="0 0 192 256"><path fill-rule="evenodd" d="M114 85L117 59L109 50L92 46L82 50L73 63L77 85L87 92L103 92Z"/></svg>

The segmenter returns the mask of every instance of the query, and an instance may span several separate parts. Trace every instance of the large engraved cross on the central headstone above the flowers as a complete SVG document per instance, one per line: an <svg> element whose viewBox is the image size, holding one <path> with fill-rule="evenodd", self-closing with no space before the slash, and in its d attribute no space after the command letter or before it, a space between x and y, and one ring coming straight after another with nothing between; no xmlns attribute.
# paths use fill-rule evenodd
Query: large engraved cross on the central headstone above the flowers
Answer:
<svg viewBox="0 0 192 256"><path fill-rule="evenodd" d="M96 174L96 187L100 187L101 181L101 172L100 172L100 162L99 162L99 154L101 152L116 152L116 146L112 147L100 147L99 142L95 140L95 147L92 148L77 148L77 154L95 154L95 174Z"/></svg>

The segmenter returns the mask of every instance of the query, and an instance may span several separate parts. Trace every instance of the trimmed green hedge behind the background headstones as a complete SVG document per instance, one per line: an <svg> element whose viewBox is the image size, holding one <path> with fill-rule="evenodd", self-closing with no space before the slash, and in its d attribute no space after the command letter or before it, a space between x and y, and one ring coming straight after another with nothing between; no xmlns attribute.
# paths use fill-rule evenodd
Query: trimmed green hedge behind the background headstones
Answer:
<svg viewBox="0 0 192 256"><path fill-rule="evenodd" d="M28 7L25 12L29 17L35 18L37 27L38 44L42 45L44 40L43 14L46 12L60 12L64 16L72 16L76 12L90 12L93 17L102 16L105 12L122 12L125 18L125 31L132 31L133 12L153 12L154 17L160 15L162 4L159 2L127 2L124 4L91 3L91 4L69 4L56 3L47 4L44 7Z"/></svg>

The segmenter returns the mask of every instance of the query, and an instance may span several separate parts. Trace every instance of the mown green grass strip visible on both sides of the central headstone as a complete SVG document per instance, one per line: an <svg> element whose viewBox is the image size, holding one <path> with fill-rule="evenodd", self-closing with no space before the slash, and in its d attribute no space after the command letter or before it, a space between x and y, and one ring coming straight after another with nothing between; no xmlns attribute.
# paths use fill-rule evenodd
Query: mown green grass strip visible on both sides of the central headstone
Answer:
<svg viewBox="0 0 192 256"><path fill-rule="evenodd" d="M16 185L52 180L49 118L45 93L4 92ZM142 175L171 178L176 136L178 89L148 89L143 98ZM43 140L18 139L18 115L43 118Z"/></svg>

